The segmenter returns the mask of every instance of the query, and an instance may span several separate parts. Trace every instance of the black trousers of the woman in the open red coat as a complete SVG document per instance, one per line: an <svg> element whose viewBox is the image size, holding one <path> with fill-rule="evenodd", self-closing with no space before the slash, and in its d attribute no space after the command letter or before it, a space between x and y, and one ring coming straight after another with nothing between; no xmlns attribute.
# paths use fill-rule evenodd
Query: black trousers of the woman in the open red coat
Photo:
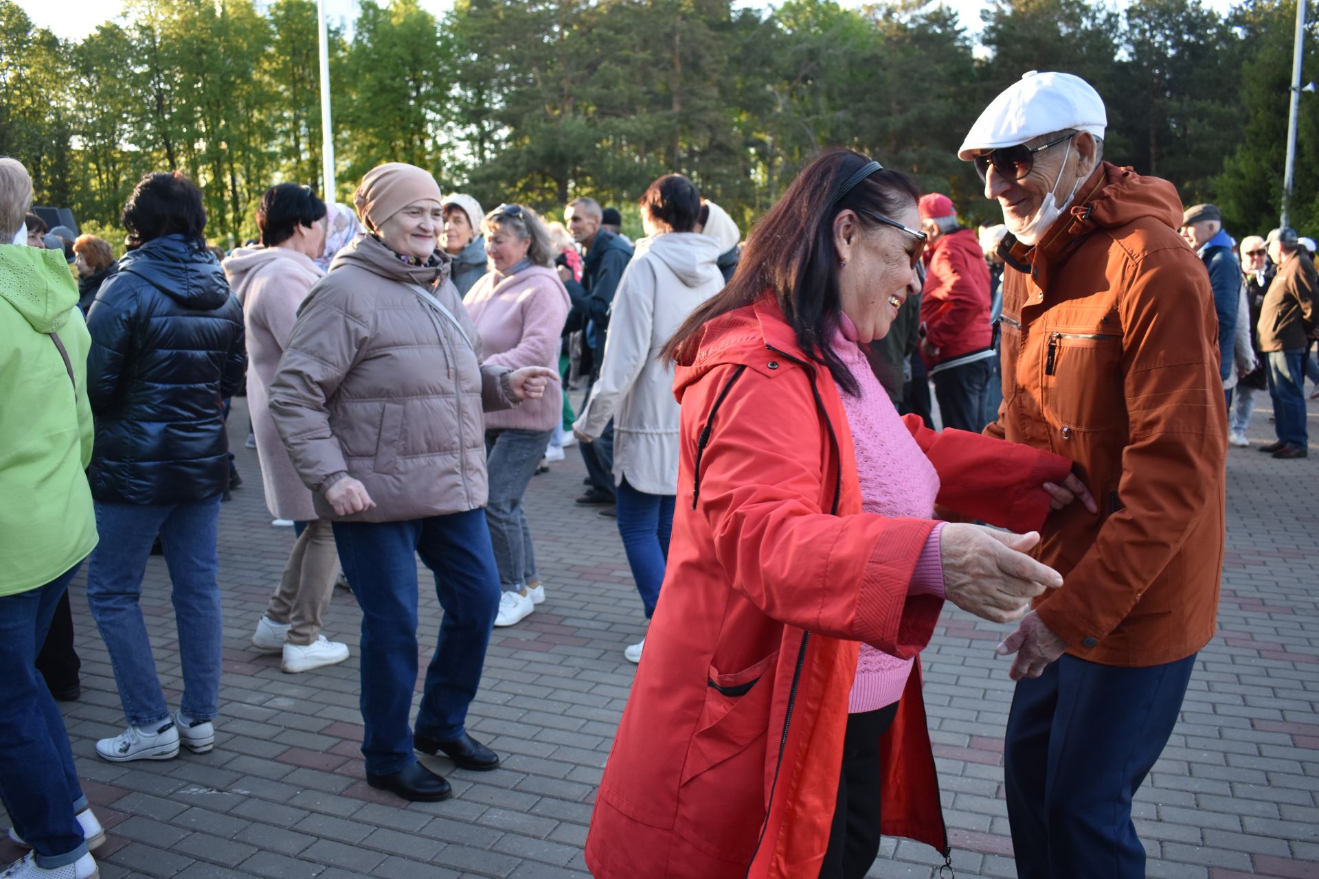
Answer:
<svg viewBox="0 0 1319 879"><path fill-rule="evenodd" d="M819 879L863 879L880 854L880 737L897 713L893 702L847 718L838 803Z"/></svg>

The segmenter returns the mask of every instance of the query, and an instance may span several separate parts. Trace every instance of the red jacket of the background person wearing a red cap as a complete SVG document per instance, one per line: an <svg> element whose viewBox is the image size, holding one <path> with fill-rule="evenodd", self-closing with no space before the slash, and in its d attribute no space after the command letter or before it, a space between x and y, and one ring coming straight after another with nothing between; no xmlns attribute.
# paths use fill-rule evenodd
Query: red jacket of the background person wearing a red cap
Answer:
<svg viewBox="0 0 1319 879"><path fill-rule="evenodd" d="M930 248L930 264L921 297L921 326L926 366L984 351L993 344L989 326L989 266L971 229L944 235Z"/></svg>

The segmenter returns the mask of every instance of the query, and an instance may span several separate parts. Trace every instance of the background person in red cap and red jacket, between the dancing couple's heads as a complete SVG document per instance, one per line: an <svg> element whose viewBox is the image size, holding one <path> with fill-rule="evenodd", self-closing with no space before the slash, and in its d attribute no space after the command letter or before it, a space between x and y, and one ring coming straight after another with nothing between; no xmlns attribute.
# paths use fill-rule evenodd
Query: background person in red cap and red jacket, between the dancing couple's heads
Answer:
<svg viewBox="0 0 1319 879"><path fill-rule="evenodd" d="M934 381L944 427L979 434L993 420L987 411L993 374L989 324L989 266L980 240L958 223L947 195L921 199L921 229L930 262L921 294L921 356Z"/></svg>

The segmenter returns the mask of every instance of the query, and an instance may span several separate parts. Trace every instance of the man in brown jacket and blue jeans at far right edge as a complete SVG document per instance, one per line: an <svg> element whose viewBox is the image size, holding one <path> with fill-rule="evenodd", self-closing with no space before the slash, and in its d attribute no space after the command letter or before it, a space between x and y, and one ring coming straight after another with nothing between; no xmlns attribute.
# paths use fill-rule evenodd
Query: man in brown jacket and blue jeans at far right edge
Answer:
<svg viewBox="0 0 1319 879"><path fill-rule="evenodd" d="M1269 232L1269 258L1278 266L1260 308L1260 351L1269 362L1269 395L1273 397L1278 441L1261 445L1274 457L1306 457L1304 372L1306 340L1319 320L1319 277L1310 253L1295 229Z"/></svg>

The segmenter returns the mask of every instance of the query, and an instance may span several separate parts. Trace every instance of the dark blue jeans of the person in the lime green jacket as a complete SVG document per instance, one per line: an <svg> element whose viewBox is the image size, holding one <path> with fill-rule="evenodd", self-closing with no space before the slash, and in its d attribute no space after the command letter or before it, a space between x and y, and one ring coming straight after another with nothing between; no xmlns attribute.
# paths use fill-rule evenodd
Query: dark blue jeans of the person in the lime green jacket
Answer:
<svg viewBox="0 0 1319 879"><path fill-rule="evenodd" d="M65 720L36 667L50 618L80 564L44 586L0 597L0 800L46 870L87 854L74 818L87 797Z"/></svg>

